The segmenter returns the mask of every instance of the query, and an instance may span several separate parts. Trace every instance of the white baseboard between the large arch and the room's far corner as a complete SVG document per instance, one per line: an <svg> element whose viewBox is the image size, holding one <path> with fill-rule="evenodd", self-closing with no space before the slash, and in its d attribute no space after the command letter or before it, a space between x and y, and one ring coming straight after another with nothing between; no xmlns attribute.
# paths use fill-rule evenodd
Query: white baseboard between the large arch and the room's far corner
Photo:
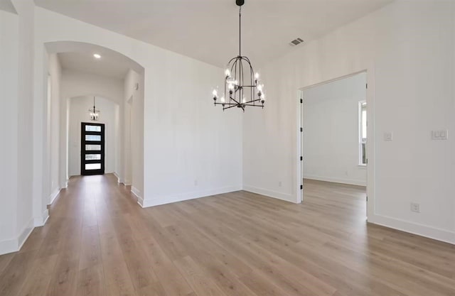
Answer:
<svg viewBox="0 0 455 296"><path fill-rule="evenodd" d="M223 187L223 188L216 188L212 190L200 190L196 192L186 192L181 194L175 194L168 197L162 198L151 198L151 199L143 199L138 198L137 202L141 205L141 207L154 207L159 206L160 204L171 204L173 202L183 202L184 200L188 199L196 199L201 197L209 197L216 194L223 194L228 192L234 192L242 190L242 187L239 186L232 186L232 187Z"/></svg>

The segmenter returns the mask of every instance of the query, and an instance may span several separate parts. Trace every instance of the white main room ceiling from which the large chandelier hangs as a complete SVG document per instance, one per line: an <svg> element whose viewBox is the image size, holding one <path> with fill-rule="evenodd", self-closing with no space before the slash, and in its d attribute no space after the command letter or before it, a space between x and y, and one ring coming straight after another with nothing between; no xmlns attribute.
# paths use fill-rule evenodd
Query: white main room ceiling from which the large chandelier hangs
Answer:
<svg viewBox="0 0 455 296"><path fill-rule="evenodd" d="M253 65L289 53L393 0L245 0L242 55ZM38 6L212 65L238 55L235 0L35 0Z"/></svg>

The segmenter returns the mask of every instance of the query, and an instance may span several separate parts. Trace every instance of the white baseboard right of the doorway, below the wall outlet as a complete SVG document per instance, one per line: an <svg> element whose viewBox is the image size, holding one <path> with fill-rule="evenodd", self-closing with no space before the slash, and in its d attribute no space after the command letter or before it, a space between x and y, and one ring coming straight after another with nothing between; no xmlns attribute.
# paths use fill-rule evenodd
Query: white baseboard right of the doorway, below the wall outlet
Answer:
<svg viewBox="0 0 455 296"><path fill-rule="evenodd" d="M417 224L411 221L405 221L402 219L396 219L378 214L368 215L368 222L392 229L397 229L400 231L405 231L410 234L417 234L418 236L425 236L429 239L436 239L437 241L444 241L445 243L455 244L455 231L438 229L436 227Z"/></svg>

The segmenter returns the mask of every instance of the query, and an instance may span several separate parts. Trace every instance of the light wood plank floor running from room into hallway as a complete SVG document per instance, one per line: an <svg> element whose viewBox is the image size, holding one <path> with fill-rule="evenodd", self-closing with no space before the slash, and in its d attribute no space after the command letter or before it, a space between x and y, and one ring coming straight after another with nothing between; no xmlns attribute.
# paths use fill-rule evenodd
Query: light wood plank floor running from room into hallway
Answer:
<svg viewBox="0 0 455 296"><path fill-rule="evenodd" d="M304 204L248 192L141 209L112 175L75 177L0 256L0 295L455 295L455 246L365 223L362 187Z"/></svg>

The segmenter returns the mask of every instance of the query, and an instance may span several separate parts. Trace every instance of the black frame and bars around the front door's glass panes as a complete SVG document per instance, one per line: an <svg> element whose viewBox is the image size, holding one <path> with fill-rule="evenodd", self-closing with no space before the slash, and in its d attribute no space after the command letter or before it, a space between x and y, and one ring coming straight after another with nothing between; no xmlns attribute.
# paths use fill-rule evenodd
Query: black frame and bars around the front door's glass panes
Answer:
<svg viewBox="0 0 455 296"><path fill-rule="evenodd" d="M85 126L100 126L101 131L85 131ZM85 135L101 136L101 141L85 141ZM100 145L101 150L85 150L85 145ZM96 151L96 153L94 153ZM86 154L101 154L101 160L85 160ZM87 163L101 163L100 170L85 170ZM105 124L92 122L80 123L80 175L104 175L105 174Z"/></svg>

